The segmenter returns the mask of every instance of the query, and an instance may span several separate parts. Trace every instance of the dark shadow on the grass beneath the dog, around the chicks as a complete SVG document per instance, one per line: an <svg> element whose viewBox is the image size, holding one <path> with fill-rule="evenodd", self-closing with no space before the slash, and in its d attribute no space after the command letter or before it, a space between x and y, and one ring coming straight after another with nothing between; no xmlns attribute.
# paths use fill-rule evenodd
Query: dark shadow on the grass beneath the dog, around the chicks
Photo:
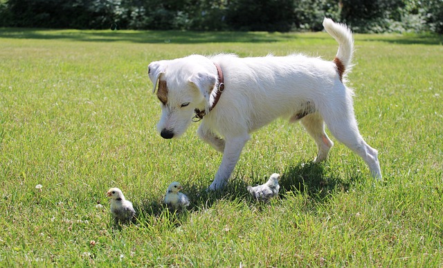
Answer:
<svg viewBox="0 0 443 268"><path fill-rule="evenodd" d="M162 197L156 199L145 199L138 204L138 222L141 224L152 224L154 222L165 220L170 221L171 226L179 226L183 221L188 220L189 213L206 210L213 206L219 199L235 200L242 199L249 202L251 206L257 204L249 195L246 187L251 184L263 184L271 174L266 178L253 176L251 179L233 179L224 190L208 191L201 184L189 184L183 190L190 199L190 206L186 211L169 211L163 204ZM242 176L239 176L242 177ZM246 176L244 176L246 177ZM327 201L327 197L336 193L336 191L347 191L352 181L358 179L358 175L350 179L343 180L340 177L325 171L323 163L298 163L282 172L280 177L280 199L286 198L286 193L291 191L309 196L309 199L316 203ZM257 204L260 206L260 204Z"/></svg>

